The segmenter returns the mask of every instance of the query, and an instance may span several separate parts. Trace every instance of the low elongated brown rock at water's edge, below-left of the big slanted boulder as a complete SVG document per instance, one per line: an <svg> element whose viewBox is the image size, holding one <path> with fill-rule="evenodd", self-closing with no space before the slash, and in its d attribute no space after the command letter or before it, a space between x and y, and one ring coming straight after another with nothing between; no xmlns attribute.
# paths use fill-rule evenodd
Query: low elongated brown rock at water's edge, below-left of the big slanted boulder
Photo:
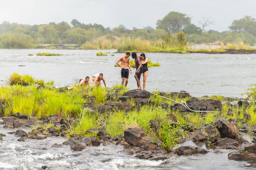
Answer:
<svg viewBox="0 0 256 170"><path fill-rule="evenodd" d="M177 155L193 155L193 154L205 154L207 150L199 148L199 147L192 147L192 146L182 146L175 150Z"/></svg>

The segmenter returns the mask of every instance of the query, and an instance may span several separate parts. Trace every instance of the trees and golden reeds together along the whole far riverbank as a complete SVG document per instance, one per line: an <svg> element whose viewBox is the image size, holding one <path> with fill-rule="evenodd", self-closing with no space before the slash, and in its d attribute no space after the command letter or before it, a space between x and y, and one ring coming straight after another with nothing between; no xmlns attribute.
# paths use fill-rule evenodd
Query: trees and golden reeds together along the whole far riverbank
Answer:
<svg viewBox="0 0 256 170"><path fill-rule="evenodd" d="M133 27L130 30L124 25L110 29L96 23L80 23L76 19L71 25L64 21L43 25L4 21L0 24L0 48L117 49L118 53L256 53L256 20L251 16L233 20L229 30L223 32L200 28L188 15L174 11L157 20L156 25L156 28ZM196 44L203 46L194 48Z"/></svg>

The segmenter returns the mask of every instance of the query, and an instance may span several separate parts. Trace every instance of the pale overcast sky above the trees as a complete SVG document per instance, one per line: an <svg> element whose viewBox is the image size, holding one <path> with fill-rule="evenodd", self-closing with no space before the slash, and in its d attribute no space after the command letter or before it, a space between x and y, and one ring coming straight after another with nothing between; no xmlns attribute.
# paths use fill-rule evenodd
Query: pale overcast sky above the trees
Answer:
<svg viewBox="0 0 256 170"><path fill-rule="evenodd" d="M214 21L206 29L228 30L233 20L256 18L256 0L1 0L0 23L45 24L77 19L114 28L156 28L170 11L185 13L197 26L202 17Z"/></svg>

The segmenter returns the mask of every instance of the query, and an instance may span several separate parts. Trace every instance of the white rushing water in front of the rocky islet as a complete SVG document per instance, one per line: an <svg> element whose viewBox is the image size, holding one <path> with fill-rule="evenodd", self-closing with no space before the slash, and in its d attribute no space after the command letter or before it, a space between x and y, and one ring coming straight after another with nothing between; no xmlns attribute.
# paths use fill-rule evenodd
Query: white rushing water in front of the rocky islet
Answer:
<svg viewBox="0 0 256 170"><path fill-rule="evenodd" d="M170 155L164 161L141 160L122 152L121 145L86 147L77 152L68 145L51 148L54 143L66 141L62 137L47 137L44 140L27 140L19 142L13 134L16 129L3 129L6 134L0 141L0 170L40 170L46 165L49 170L252 170L256 168L254 161L228 160L231 150L208 150L205 155L177 156ZM30 129L23 129L29 131ZM244 136L252 140L252 136ZM195 145L187 141L184 146ZM205 145L200 145L205 148ZM42 148L45 148L42 150Z"/></svg>

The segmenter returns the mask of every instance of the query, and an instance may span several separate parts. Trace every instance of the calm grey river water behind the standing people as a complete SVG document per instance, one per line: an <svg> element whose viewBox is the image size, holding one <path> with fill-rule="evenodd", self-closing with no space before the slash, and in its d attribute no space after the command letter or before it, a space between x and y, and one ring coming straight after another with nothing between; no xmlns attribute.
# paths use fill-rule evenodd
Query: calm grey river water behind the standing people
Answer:
<svg viewBox="0 0 256 170"><path fill-rule="evenodd" d="M108 56L96 56L100 51L110 53ZM63 56L36 56L39 52L60 53ZM123 53L114 52L116 50L0 49L0 80L18 72L37 79L54 80L56 86L72 86L80 78L89 76L91 79L93 74L103 73L107 86L112 87L121 82L120 68L114 65L123 56ZM29 53L34 56L28 56ZM112 53L115 56L111 56ZM146 89L150 91L244 93L256 80L255 54L146 53L146 57L153 63L161 64L160 67L149 68ZM134 73L135 69L129 76L130 89L136 88Z"/></svg>

